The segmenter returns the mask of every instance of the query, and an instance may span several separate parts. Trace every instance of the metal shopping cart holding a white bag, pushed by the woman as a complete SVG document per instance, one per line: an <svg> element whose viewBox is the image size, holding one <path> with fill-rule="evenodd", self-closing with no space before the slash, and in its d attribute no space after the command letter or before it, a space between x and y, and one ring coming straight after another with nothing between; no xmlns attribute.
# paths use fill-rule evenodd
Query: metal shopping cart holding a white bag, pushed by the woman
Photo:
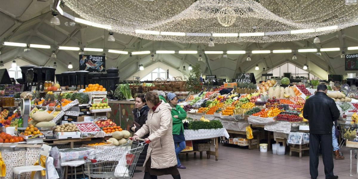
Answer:
<svg viewBox="0 0 358 179"><path fill-rule="evenodd" d="M144 141L144 139L137 139ZM149 142L147 142L149 143ZM96 154L84 156L84 173L92 178L122 178L131 179L136 167L139 154L146 142L127 143Z"/></svg>

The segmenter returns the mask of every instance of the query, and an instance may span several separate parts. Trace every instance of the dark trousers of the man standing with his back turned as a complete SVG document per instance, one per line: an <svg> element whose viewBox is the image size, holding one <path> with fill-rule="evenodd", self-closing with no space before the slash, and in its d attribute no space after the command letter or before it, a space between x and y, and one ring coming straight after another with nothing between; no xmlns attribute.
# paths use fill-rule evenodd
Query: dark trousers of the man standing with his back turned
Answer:
<svg viewBox="0 0 358 179"><path fill-rule="evenodd" d="M322 158L326 178L333 177L332 134L310 134L310 174L318 176L318 151L322 147Z"/></svg>

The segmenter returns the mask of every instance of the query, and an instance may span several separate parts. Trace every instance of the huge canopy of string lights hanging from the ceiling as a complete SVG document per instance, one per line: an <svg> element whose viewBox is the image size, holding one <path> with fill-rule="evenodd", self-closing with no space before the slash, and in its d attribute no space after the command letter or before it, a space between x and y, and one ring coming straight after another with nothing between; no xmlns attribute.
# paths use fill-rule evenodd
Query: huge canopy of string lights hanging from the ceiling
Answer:
<svg viewBox="0 0 358 179"><path fill-rule="evenodd" d="M180 43L286 42L357 25L345 0L65 0L117 33Z"/></svg>

